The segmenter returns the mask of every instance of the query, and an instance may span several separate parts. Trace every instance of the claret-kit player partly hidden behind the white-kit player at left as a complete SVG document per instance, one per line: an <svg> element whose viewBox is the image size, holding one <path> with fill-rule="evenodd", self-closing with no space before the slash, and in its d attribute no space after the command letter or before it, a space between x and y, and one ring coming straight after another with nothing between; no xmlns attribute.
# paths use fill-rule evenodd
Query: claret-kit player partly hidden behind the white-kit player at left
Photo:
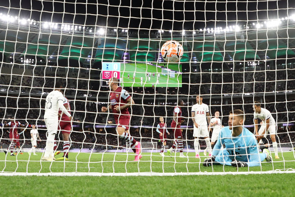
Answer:
<svg viewBox="0 0 295 197"><path fill-rule="evenodd" d="M67 111L71 114L71 108L70 108L70 103L69 100L64 97L63 99L63 104L65 106L65 108L67 109ZM59 122L59 130L62 131L63 134L63 141L64 141L64 155L58 159L58 160L69 160L69 149L70 149L70 134L71 134L71 130L72 130L72 125L71 125L71 121L69 119L69 116L67 116L65 113L62 113L61 110L59 110L59 116L60 116L60 122ZM55 155L59 154L60 151L56 152Z"/></svg>

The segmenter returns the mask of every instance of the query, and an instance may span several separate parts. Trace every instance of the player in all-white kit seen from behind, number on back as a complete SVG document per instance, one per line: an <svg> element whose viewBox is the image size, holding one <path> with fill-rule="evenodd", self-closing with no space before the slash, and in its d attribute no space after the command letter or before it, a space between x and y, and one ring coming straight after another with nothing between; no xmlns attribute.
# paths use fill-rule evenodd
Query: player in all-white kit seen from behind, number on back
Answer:
<svg viewBox="0 0 295 197"><path fill-rule="evenodd" d="M42 160L53 161L54 158L54 139L58 130L58 113L59 109L62 110L67 116L69 116L70 121L72 121L71 114L67 111L63 104L64 95L61 93L62 84L56 82L55 90L49 93L46 97L45 103L45 113L44 121L47 128L47 140L45 146L45 152Z"/></svg>

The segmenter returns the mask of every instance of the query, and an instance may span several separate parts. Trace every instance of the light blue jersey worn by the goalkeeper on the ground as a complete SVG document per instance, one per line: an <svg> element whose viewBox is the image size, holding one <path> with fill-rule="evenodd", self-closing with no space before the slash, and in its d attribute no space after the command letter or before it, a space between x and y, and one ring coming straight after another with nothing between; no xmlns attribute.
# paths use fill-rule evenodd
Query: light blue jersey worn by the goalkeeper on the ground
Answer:
<svg viewBox="0 0 295 197"><path fill-rule="evenodd" d="M221 149L223 144L225 148ZM265 158L264 154L259 154L254 134L244 127L242 133L236 137L231 135L229 127L222 128L212 155L215 156L216 162L223 165L231 165L233 160L237 160L247 162L249 167L260 166L260 162Z"/></svg>

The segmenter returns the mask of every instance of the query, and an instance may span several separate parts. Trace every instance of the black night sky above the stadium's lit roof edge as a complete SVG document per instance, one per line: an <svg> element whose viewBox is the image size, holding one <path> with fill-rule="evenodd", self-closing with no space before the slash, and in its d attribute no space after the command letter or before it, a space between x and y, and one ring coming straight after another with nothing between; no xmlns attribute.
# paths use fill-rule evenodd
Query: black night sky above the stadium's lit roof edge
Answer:
<svg viewBox="0 0 295 197"><path fill-rule="evenodd" d="M237 24L246 24L245 21L252 23L257 20L276 19L295 14L294 0L269 2L266 0L258 2L251 0L207 0L207 2L132 0L131 3L130 0L109 0L109 2L105 0L1 0L0 2L0 12L6 14L9 12L21 18L134 29L192 30L234 25L237 20L239 21ZM86 5L85 2L88 4ZM10 9L7 9L9 7Z"/></svg>

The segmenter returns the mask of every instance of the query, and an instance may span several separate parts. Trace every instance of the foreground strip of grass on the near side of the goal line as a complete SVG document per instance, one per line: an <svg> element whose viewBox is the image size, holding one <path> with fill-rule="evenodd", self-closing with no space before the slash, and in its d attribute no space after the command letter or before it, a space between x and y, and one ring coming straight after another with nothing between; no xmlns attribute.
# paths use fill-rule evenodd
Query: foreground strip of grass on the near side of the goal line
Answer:
<svg viewBox="0 0 295 197"><path fill-rule="evenodd" d="M0 177L2 196L291 196L293 174Z"/></svg>

